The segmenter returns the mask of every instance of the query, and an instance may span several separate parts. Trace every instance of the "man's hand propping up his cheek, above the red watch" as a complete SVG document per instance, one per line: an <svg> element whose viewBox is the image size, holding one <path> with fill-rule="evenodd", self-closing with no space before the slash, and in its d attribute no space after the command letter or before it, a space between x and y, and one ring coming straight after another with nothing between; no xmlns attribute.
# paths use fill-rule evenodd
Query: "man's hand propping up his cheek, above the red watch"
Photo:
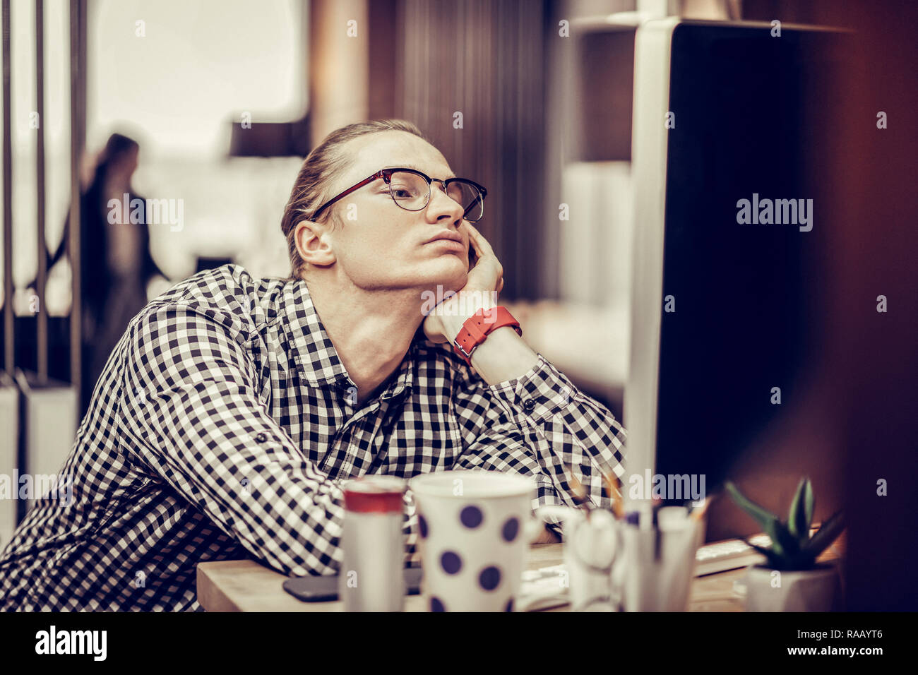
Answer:
<svg viewBox="0 0 918 675"><path fill-rule="evenodd" d="M463 322L478 309L497 306L498 294L504 287L504 268L491 244L467 220L460 227L468 231L478 262L468 271L465 286L433 308L424 319L424 334L435 343L452 343Z"/></svg>

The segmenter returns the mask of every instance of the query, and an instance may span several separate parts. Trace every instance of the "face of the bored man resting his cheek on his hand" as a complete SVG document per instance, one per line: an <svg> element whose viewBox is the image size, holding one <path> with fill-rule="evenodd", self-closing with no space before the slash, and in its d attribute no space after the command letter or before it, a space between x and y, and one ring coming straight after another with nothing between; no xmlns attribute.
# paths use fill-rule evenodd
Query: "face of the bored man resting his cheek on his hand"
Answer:
<svg viewBox="0 0 918 675"><path fill-rule="evenodd" d="M382 131L344 146L351 159L332 181L329 198L386 167L416 169L445 180L453 171L441 152L406 131ZM338 273L364 289L420 288L457 291L468 274L469 233L463 209L447 197L439 183L420 211L399 207L382 178L342 197L330 208L341 224L326 231ZM352 219L353 218L353 219ZM443 231L458 232L462 245L434 241ZM420 300L420 298L419 298Z"/></svg>

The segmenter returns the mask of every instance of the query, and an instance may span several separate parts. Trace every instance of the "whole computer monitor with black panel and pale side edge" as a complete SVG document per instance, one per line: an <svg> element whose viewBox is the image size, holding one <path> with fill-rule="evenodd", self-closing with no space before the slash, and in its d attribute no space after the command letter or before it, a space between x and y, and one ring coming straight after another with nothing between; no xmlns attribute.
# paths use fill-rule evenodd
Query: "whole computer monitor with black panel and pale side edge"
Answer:
<svg viewBox="0 0 918 675"><path fill-rule="evenodd" d="M821 162L834 138L821 123L844 39L677 17L638 28L623 419L626 477L645 494L644 477L684 475L710 494L800 406L823 330Z"/></svg>

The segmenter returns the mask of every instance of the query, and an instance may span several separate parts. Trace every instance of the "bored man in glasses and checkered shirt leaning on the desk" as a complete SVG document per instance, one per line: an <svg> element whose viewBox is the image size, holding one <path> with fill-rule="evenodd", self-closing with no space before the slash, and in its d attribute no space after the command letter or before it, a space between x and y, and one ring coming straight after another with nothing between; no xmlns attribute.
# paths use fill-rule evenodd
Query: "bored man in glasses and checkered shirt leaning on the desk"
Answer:
<svg viewBox="0 0 918 675"><path fill-rule="evenodd" d="M197 563L225 558L334 574L341 483L366 474L521 473L537 507L574 503L573 469L608 507L600 471L621 472L624 439L610 411L512 325L470 364L450 344L503 286L468 220L480 188L407 122L330 134L285 209L290 279L228 265L131 321L62 471L73 503L20 523L0 607L194 611ZM430 311L438 286L460 292ZM417 532L408 491L407 558Z"/></svg>

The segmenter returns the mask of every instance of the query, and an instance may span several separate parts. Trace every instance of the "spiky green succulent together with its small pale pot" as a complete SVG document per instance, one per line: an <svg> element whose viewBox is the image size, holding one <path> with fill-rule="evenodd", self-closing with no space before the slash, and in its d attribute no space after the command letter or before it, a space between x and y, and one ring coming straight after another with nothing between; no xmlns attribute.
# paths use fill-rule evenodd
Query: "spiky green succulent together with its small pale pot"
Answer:
<svg viewBox="0 0 918 675"><path fill-rule="evenodd" d="M767 562L748 569L747 612L829 612L839 599L837 565L817 563L816 558L832 546L845 529L842 512L835 512L820 529L810 534L814 498L810 478L801 478L790 503L787 523L746 499L731 482L725 484L733 501L761 525L771 547L756 546Z"/></svg>

